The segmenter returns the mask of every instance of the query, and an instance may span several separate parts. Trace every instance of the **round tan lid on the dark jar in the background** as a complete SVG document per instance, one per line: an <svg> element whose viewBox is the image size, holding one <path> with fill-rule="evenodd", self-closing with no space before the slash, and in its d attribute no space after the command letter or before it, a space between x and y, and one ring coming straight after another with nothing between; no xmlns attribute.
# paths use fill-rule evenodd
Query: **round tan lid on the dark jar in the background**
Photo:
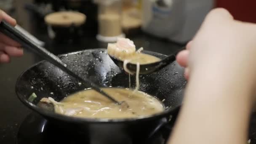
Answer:
<svg viewBox="0 0 256 144"><path fill-rule="evenodd" d="M86 16L76 11L60 11L45 16L45 22L53 26L69 27L72 24L80 26L85 23Z"/></svg>

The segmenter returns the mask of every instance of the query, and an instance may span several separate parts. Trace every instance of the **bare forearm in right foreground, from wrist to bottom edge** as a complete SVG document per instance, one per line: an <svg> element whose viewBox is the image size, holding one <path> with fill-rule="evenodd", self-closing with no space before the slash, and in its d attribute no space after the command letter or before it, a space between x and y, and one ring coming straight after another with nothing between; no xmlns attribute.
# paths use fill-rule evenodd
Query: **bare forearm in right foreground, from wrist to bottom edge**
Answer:
<svg viewBox="0 0 256 144"><path fill-rule="evenodd" d="M184 107L169 144L245 143L252 83L249 77L233 79L211 72L205 77L205 73L192 75L189 80Z"/></svg>

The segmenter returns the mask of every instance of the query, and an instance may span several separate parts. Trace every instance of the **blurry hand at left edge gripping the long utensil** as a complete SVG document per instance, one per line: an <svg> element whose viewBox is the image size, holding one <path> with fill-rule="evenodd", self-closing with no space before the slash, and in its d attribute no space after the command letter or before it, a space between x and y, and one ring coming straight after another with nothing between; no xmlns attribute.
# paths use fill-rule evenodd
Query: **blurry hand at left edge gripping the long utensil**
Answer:
<svg viewBox="0 0 256 144"><path fill-rule="evenodd" d="M0 10L0 21L2 20L5 20L13 27L16 25L15 19ZM16 41L0 33L0 63L8 63L11 60L11 56L22 56L23 50L20 46Z"/></svg>

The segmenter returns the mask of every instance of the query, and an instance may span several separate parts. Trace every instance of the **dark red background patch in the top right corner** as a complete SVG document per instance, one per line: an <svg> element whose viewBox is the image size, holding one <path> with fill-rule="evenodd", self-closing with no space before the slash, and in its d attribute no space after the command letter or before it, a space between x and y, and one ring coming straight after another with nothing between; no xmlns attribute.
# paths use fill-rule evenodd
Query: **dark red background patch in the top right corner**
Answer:
<svg viewBox="0 0 256 144"><path fill-rule="evenodd" d="M256 0L216 0L216 6L229 10L237 20L256 23Z"/></svg>

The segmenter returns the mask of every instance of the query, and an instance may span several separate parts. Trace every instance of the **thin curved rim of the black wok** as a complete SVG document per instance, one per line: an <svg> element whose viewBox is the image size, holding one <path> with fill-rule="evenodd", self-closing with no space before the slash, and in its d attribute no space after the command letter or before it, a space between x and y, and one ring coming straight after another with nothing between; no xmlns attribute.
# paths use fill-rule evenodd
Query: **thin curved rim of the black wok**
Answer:
<svg viewBox="0 0 256 144"><path fill-rule="evenodd" d="M93 48L93 49L85 49L85 50L80 50L80 51L73 51L73 52L69 52L69 53L63 53L63 54L59 54L57 55L58 57L60 56L64 56L66 54L76 54L76 53L81 53L84 51L102 51L102 50L107 50L106 48ZM154 51L145 51L145 52L150 52L150 53L157 53ZM167 56L161 53L157 53L158 55L162 55L162 56ZM39 64L42 64L46 62L46 60L42 60L39 61L35 64L33 64L31 67L27 68L25 71L21 72L21 74L19 75L19 77L16 80L15 83L15 92L16 95L18 96L19 100L29 109L32 109L34 112L39 113L40 115L42 115L43 117L45 117L46 119L48 117L54 118L56 120L61 120L61 121L66 121L66 122L75 122L75 123L84 123L84 122L91 122L91 123L124 123L124 122L138 122L138 121L147 121L149 119L157 119L157 118L163 118L163 117L169 117L171 116L173 113L175 113L177 110L179 110L179 108L181 107L181 104L179 104L176 107L171 107L168 109L165 109L163 112L157 113L155 115L149 115L149 116L144 116L144 117L136 117L136 118L118 118L118 119L111 119L111 118L83 118L83 117L70 117L70 116L66 116L66 115L61 115L55 112L51 112L49 110L45 110L42 109L40 107L38 107L37 105L29 102L27 99L24 98L24 96L21 96L21 94L19 94L18 92L18 83L21 79L21 77L30 69L32 69L33 67L36 67Z"/></svg>

